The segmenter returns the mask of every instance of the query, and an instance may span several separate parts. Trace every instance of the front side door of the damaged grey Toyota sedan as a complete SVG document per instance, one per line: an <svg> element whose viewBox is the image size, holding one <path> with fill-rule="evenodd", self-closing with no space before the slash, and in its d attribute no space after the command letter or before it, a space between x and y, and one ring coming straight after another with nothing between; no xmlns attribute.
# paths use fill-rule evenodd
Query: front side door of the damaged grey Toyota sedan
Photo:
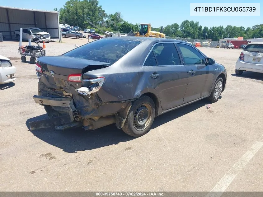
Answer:
<svg viewBox="0 0 263 197"><path fill-rule="evenodd" d="M207 96L214 80L214 65L208 65L206 57L195 47L176 43L188 71L188 86L184 103Z"/></svg>

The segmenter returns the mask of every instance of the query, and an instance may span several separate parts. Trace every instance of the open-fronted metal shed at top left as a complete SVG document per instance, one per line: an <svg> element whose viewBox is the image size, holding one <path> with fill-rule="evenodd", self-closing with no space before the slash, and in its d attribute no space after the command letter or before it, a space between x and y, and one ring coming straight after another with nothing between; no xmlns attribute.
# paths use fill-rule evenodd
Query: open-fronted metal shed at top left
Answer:
<svg viewBox="0 0 263 197"><path fill-rule="evenodd" d="M16 39L14 30L26 27L38 27L61 42L59 12L0 6L0 33L4 40Z"/></svg>

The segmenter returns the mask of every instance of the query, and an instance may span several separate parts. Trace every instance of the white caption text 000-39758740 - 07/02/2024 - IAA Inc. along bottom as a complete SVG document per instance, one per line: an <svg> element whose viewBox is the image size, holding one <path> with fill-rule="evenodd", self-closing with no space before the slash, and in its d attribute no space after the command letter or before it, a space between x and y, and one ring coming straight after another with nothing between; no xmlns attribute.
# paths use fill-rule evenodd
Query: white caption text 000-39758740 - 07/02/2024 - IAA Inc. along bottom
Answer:
<svg viewBox="0 0 263 197"><path fill-rule="evenodd" d="M96 192L96 196L164 196L162 192Z"/></svg>

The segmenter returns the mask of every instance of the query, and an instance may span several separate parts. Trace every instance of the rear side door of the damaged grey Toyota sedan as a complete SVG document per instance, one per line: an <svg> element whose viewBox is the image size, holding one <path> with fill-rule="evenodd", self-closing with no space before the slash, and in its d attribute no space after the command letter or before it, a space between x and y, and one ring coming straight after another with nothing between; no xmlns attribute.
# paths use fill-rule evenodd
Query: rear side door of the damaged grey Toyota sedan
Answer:
<svg viewBox="0 0 263 197"><path fill-rule="evenodd" d="M163 110L183 104L188 73L173 42L155 44L143 69L157 91Z"/></svg>

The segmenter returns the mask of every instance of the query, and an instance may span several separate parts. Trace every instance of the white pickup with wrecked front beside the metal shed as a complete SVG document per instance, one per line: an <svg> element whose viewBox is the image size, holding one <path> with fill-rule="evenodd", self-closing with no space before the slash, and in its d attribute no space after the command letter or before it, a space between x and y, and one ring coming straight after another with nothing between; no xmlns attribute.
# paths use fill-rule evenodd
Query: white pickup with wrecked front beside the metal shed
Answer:
<svg viewBox="0 0 263 197"><path fill-rule="evenodd" d="M19 40L20 30L15 30L14 33L16 35L16 39ZM51 41L50 34L45 31L42 31L41 29L37 27L23 28L22 40L28 41L29 38L32 40L38 40L40 42L43 42L43 41L50 42Z"/></svg>

